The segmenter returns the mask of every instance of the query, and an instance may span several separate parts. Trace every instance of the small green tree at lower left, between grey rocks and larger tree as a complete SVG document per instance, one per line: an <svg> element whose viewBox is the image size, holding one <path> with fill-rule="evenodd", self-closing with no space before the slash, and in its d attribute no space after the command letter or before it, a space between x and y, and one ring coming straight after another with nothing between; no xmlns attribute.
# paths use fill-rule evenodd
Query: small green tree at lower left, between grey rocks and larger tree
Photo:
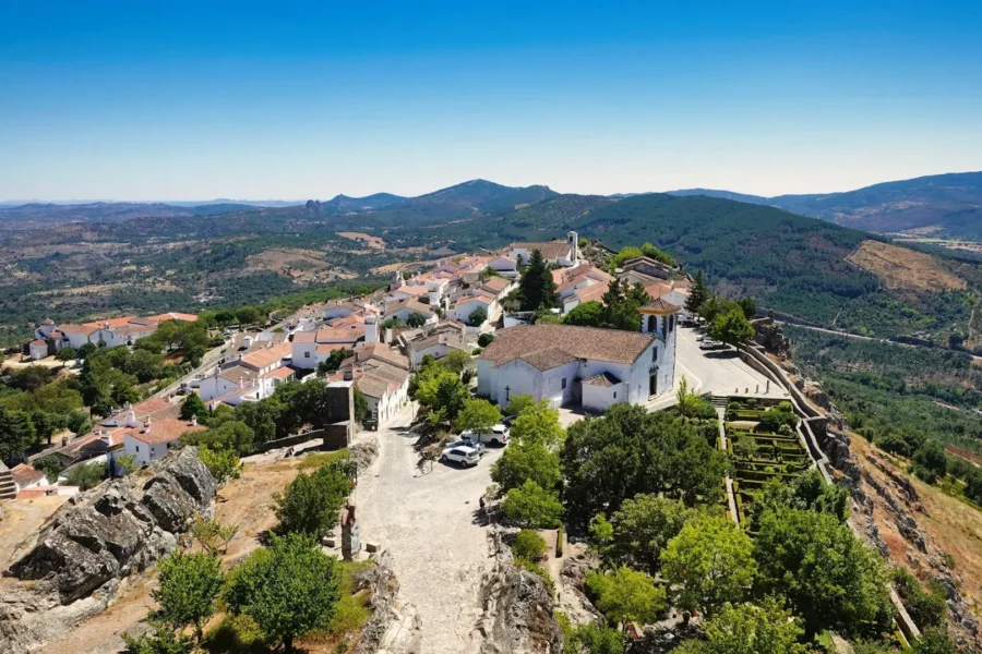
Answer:
<svg viewBox="0 0 982 654"><path fill-rule="evenodd" d="M160 605L157 616L177 629L193 627L200 643L202 626L215 613L225 581L218 557L178 549L160 561L158 570L159 588L153 592Z"/></svg>

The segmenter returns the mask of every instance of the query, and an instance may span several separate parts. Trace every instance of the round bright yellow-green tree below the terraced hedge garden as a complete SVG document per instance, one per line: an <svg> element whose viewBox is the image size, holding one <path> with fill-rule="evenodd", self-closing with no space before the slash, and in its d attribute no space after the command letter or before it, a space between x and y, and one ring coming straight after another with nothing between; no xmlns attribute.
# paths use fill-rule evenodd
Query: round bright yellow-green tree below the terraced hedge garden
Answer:
<svg viewBox="0 0 982 654"><path fill-rule="evenodd" d="M728 519L690 520L661 553L661 570L687 609L716 614L723 603L746 595L756 573L754 546L746 532Z"/></svg>

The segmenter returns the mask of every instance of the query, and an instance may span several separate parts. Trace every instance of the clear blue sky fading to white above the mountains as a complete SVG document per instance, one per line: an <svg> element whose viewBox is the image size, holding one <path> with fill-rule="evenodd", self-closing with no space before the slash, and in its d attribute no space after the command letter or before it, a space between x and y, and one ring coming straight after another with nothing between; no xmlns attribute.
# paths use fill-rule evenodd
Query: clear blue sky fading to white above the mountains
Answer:
<svg viewBox="0 0 982 654"><path fill-rule="evenodd" d="M0 199L982 169L982 3L0 0Z"/></svg>

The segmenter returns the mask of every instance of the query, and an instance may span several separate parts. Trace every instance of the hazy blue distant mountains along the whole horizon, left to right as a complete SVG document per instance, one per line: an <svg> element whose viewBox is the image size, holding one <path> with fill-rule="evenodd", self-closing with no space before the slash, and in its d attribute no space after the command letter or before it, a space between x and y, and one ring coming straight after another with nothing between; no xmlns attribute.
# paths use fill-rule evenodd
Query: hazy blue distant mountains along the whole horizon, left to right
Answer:
<svg viewBox="0 0 982 654"><path fill-rule="evenodd" d="M821 218L865 231L907 232L923 235L982 238L982 172L922 177L874 184L842 193L778 195L764 197L716 189L669 191L669 195L705 195L747 204L767 205L794 214ZM228 201L200 203L29 203L0 205L0 223L51 223L68 221L119 222L133 218L197 218L248 211L286 211L302 217L311 210L321 217L359 214L358 221L376 226L431 225L454 218L520 210L556 197L548 186L504 186L471 180L440 191L403 197L375 193L366 197L336 195L330 201ZM606 201L645 195L620 193ZM601 196L583 196L599 198Z"/></svg>

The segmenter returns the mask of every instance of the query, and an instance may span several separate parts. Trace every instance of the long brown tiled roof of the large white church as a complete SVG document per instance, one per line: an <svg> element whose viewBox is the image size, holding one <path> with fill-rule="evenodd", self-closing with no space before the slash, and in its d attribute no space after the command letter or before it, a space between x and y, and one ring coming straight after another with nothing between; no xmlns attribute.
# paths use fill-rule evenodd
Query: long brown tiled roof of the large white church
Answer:
<svg viewBox="0 0 982 654"><path fill-rule="evenodd" d="M637 361L652 340L654 336L639 331L571 325L518 325L499 330L498 337L478 359L490 361L496 367L515 359L528 361L528 356L537 352L560 349L575 359L631 364ZM539 363L544 365L554 360L559 360L558 355L550 353Z"/></svg>

